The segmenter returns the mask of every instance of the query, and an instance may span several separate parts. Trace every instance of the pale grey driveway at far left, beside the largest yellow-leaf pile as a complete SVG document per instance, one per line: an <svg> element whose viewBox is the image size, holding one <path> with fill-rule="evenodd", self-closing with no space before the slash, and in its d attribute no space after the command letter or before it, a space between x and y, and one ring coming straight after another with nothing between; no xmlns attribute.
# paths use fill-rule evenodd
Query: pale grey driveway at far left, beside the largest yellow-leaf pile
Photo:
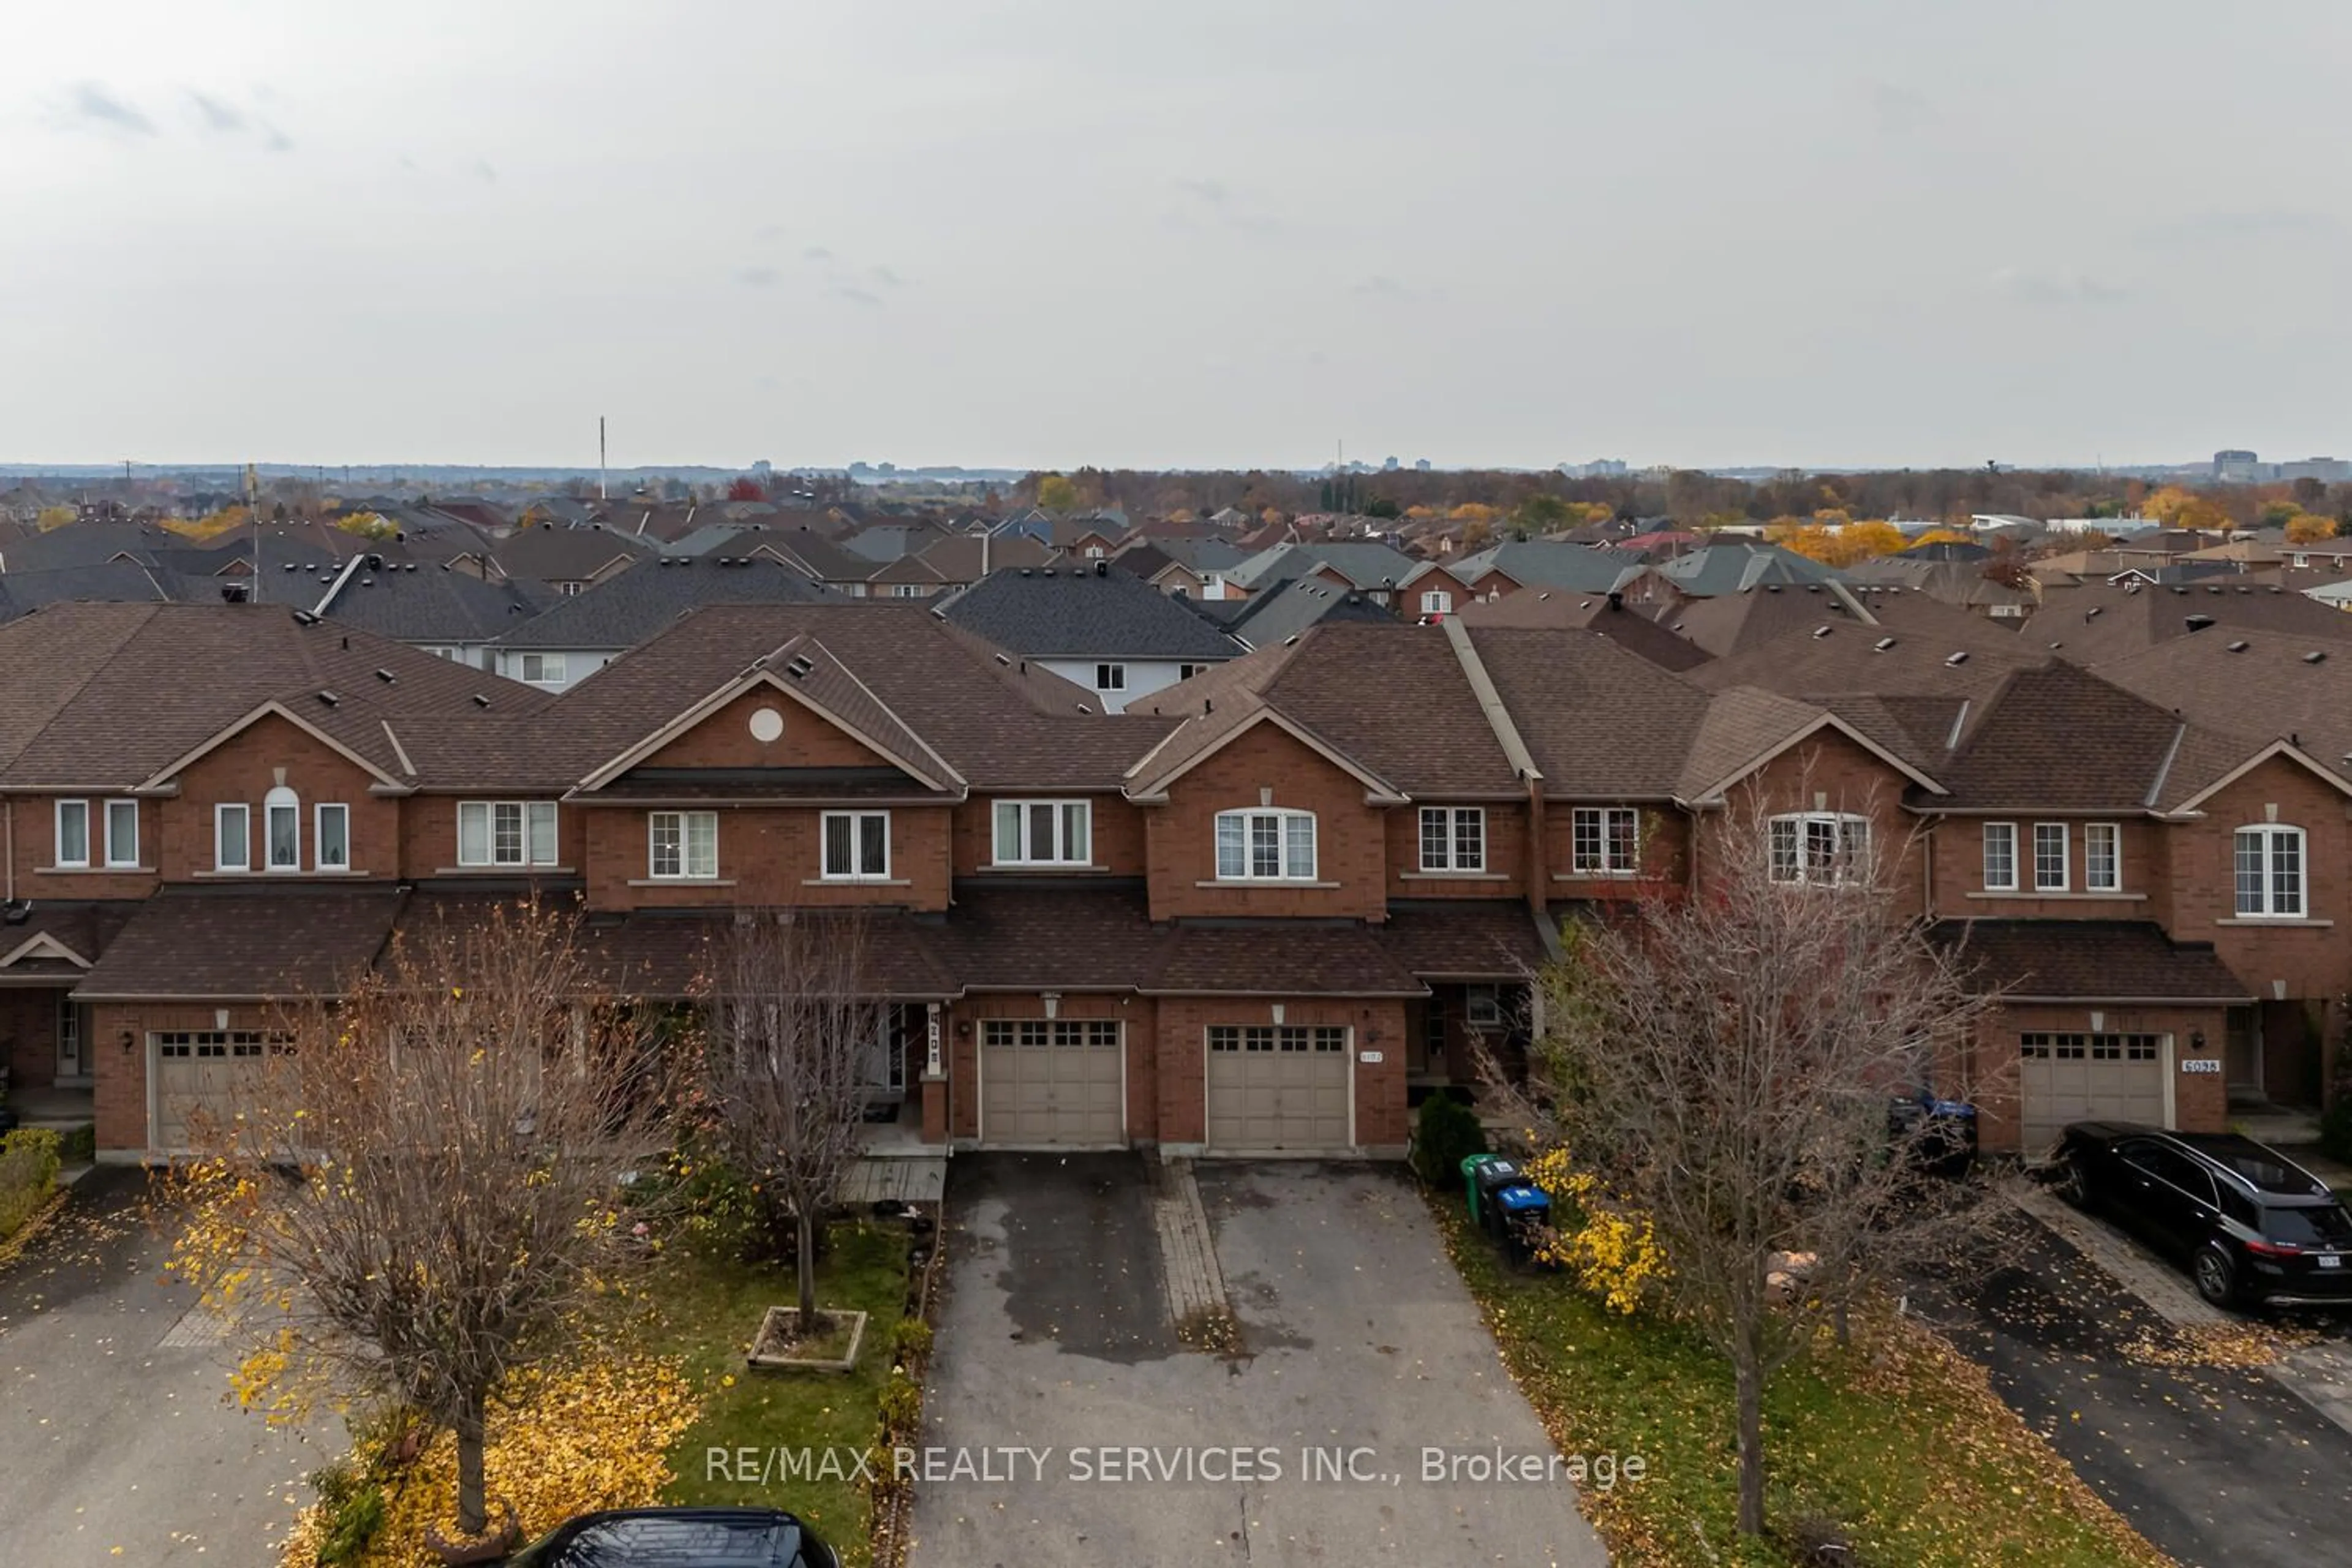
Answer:
<svg viewBox="0 0 2352 1568"><path fill-rule="evenodd" d="M0 1267L0 1563L275 1563L301 1476L332 1458L226 1399L143 1197L141 1171L99 1168Z"/></svg>

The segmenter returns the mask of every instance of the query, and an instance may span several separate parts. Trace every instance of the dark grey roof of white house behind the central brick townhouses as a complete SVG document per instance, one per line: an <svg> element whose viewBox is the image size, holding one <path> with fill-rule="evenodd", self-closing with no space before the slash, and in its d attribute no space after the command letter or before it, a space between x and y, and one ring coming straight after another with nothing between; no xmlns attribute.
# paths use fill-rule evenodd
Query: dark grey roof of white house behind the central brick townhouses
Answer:
<svg viewBox="0 0 2352 1568"><path fill-rule="evenodd" d="M1030 658L1235 658L1242 649L1183 599L1124 571L990 571L941 611Z"/></svg>

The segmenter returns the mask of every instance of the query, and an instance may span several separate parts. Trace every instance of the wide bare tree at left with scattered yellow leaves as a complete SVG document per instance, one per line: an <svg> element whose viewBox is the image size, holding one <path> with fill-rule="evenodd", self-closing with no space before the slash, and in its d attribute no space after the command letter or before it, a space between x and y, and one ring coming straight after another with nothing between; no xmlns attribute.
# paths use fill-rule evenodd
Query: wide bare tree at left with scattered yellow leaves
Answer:
<svg viewBox="0 0 2352 1568"><path fill-rule="evenodd" d="M677 1058L569 912L402 933L341 997L287 1001L261 1070L198 1117L174 1269L247 1368L292 1347L336 1396L449 1427L456 1528L482 1535L492 1401L644 1251L623 1182L670 1143Z"/></svg>

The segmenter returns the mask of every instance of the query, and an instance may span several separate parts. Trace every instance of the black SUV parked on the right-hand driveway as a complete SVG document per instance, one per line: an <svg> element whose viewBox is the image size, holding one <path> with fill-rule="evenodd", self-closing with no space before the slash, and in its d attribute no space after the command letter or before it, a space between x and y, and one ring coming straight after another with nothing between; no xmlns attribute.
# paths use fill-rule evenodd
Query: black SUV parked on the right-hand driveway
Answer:
<svg viewBox="0 0 2352 1568"><path fill-rule="evenodd" d="M2216 1307L2352 1302L2352 1215L2317 1175L2251 1138L2077 1121L2051 1185L2190 1265Z"/></svg>

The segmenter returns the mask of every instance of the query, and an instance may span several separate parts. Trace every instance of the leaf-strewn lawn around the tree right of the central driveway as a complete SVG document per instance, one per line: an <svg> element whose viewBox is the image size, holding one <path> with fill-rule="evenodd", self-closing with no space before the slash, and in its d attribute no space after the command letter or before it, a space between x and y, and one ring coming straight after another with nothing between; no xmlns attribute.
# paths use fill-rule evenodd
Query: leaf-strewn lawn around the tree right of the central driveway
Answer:
<svg viewBox="0 0 2352 1568"><path fill-rule="evenodd" d="M1446 1244L1503 1359L1562 1453L1639 1453L1646 1479L1585 1490L1621 1566L1780 1568L1785 1544L1733 1533L1729 1366L1653 1316L1621 1316L1557 1274L1517 1272L1437 1204ZM1773 1380L1766 1516L1842 1526L1865 1563L2157 1568L2164 1554L2100 1502L1983 1371L1917 1326L1858 1335Z"/></svg>

